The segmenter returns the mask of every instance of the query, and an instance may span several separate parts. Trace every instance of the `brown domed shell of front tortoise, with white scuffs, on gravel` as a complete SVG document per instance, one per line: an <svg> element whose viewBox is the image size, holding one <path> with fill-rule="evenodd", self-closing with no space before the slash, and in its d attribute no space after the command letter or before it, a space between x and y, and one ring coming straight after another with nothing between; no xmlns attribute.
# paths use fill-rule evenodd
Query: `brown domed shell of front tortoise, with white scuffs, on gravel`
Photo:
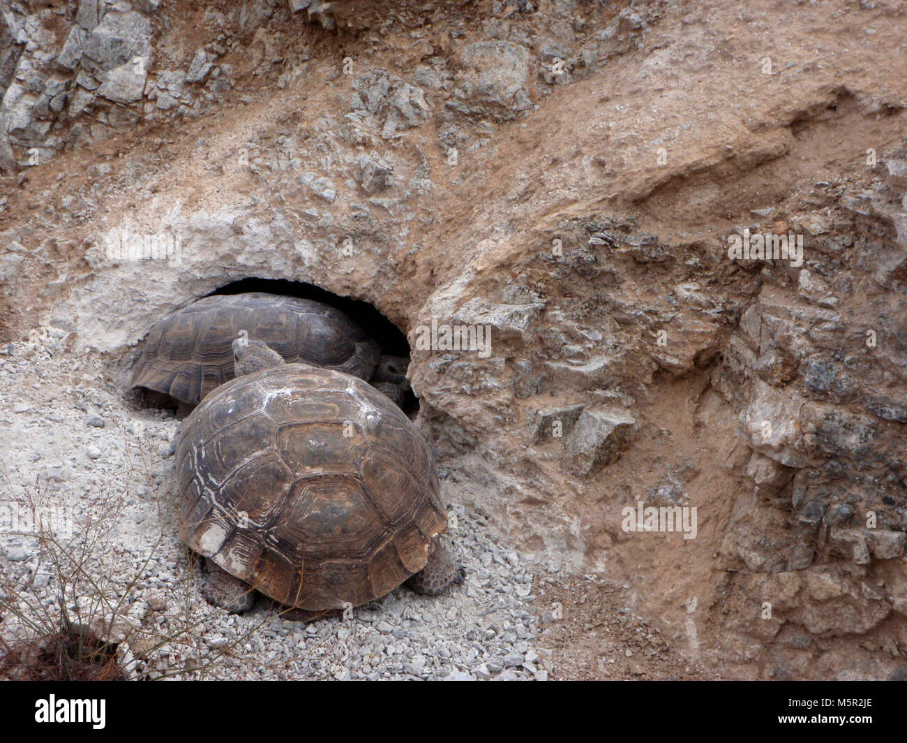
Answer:
<svg viewBox="0 0 907 743"><path fill-rule="evenodd" d="M384 596L446 526L424 439L365 381L290 364L229 381L183 424L190 549L287 606Z"/></svg>

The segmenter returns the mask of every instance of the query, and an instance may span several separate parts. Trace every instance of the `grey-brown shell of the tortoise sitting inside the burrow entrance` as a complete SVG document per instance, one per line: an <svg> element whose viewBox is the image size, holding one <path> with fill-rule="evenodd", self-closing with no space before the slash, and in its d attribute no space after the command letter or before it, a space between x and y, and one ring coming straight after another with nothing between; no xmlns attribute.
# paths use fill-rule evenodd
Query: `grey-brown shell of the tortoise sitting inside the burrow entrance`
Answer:
<svg viewBox="0 0 907 743"><path fill-rule="evenodd" d="M288 363L306 362L361 379L371 377L381 354L356 322L327 304L262 292L215 294L151 328L132 387L197 405L236 376L231 344L242 330Z"/></svg>

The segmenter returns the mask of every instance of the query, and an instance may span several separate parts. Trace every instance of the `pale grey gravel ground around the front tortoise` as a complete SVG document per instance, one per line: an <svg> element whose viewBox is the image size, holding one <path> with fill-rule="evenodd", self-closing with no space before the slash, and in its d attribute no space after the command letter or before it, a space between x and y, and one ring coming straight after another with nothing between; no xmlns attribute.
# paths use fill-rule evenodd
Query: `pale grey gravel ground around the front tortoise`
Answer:
<svg viewBox="0 0 907 743"><path fill-rule="evenodd" d="M54 632L62 593L131 678L548 678L531 567L461 506L447 546L468 574L448 595L396 589L307 624L264 599L243 616L210 607L173 517L179 421L124 397L69 338L52 328L0 349L0 638ZM13 533L36 530L35 513L42 537Z"/></svg>

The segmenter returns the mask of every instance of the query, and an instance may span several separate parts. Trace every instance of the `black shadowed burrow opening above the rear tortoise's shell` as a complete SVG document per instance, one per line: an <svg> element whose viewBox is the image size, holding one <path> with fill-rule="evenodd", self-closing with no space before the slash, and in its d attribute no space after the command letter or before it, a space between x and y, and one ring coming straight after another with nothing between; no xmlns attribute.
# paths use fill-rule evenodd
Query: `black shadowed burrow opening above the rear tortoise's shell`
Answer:
<svg viewBox="0 0 907 743"><path fill-rule="evenodd" d="M292 282L285 279L248 278L222 286L218 290L211 292L210 295L245 294L249 292L282 294L284 296L312 300L313 302L322 302L335 307L341 312L346 312L373 341L381 345L385 353L402 356L407 362L409 361L410 348L406 336L385 315L375 309L372 304L328 292L315 284ZM405 393L404 411L410 418L413 418L419 411L419 401L412 390Z"/></svg>

